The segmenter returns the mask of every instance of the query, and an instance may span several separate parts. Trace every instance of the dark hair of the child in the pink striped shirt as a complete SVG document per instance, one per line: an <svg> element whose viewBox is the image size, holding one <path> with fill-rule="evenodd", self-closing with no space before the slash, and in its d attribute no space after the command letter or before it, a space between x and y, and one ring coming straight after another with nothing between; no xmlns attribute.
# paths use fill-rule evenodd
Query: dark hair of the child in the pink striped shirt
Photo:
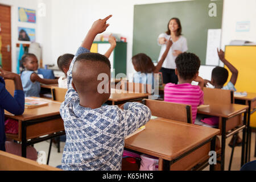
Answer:
<svg viewBox="0 0 256 182"><path fill-rule="evenodd" d="M179 76L184 80L192 79L200 68L200 59L194 53L184 52L175 59Z"/></svg>

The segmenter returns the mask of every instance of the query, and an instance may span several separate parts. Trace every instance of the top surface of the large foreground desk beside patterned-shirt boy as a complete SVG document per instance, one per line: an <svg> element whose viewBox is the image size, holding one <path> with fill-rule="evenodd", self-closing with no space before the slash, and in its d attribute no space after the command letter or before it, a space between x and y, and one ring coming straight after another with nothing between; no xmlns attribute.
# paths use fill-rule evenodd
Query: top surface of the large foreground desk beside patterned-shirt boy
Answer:
<svg viewBox="0 0 256 182"><path fill-rule="evenodd" d="M173 160L214 137L220 130L170 119L156 118L125 140L125 147L158 158Z"/></svg>

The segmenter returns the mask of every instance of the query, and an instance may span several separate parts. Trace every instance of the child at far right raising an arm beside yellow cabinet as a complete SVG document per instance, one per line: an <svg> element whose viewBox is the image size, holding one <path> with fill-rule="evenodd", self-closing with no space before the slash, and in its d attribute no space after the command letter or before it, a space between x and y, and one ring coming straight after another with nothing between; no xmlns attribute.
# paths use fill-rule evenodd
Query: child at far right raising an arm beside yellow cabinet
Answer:
<svg viewBox="0 0 256 182"><path fill-rule="evenodd" d="M214 88L224 89L224 90L233 90L235 92L236 88L234 85L236 85L236 82L237 82L238 70L231 63L229 63L228 60L225 59L224 51L222 51L221 49L220 51L218 51L217 49L217 52L218 52L218 57L220 58L222 63L224 63L232 73L231 78L228 84L224 86L225 82L228 80L229 72L226 68L216 67L212 70L211 80L210 81L204 80L205 86L207 86L207 84L210 83L214 86ZM206 119L202 119L201 122L207 123L208 125L218 126L219 119L218 117L208 117ZM230 147L233 146L233 140L234 140L234 137L229 143ZM235 146L241 146L241 145L242 145L242 139L237 135Z"/></svg>

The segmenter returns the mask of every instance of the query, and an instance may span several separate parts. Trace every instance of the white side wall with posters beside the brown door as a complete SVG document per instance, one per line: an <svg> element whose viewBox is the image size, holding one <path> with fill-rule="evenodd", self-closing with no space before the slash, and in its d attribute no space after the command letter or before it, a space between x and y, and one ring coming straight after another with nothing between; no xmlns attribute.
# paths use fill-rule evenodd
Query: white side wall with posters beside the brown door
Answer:
<svg viewBox="0 0 256 182"><path fill-rule="evenodd" d="M46 5L46 16L40 17L38 15L38 4L44 3ZM42 46L43 60L51 60L51 0L0 0L0 4L11 6L11 58L12 58L12 71L16 72L16 43L25 43L18 41L18 27L35 28L36 42ZM18 7L36 10L36 24L19 22L18 20ZM52 62L52 61L51 61Z"/></svg>

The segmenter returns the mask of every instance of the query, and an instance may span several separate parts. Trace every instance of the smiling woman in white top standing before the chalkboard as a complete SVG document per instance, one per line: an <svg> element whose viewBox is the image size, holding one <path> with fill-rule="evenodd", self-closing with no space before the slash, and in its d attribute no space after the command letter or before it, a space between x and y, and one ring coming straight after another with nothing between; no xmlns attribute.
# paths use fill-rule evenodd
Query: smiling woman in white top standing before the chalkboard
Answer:
<svg viewBox="0 0 256 182"><path fill-rule="evenodd" d="M180 53L188 50L187 39L181 34L182 28L178 18L171 18L167 27L168 30L158 36L158 44L161 46L158 61L161 59L164 50L166 49L166 43L171 37L173 44L170 48L170 51L168 52L166 59L164 60L160 72L163 74L164 84L169 82L177 84L178 79L177 75L175 75L175 59L178 55L180 55Z"/></svg>

